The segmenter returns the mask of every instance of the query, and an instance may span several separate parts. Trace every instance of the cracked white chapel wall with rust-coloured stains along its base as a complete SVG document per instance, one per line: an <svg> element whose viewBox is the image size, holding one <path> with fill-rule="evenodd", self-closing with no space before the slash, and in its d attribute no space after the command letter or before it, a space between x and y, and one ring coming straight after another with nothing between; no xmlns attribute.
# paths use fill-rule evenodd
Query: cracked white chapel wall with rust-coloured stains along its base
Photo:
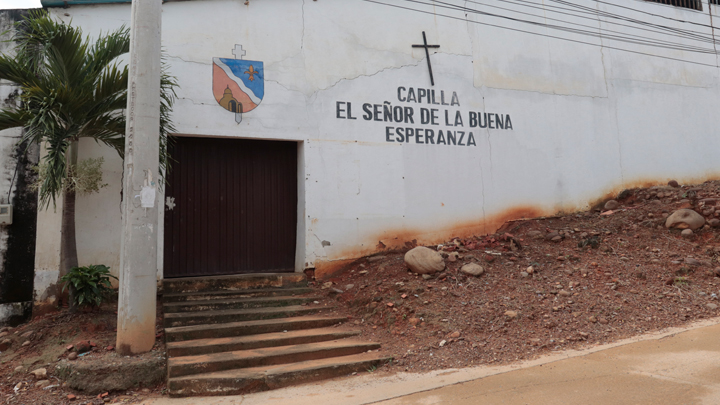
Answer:
<svg viewBox="0 0 720 405"><path fill-rule="evenodd" d="M553 23L549 6L533 3L538 15L523 18ZM578 4L674 28L687 28L677 20L689 21L700 24L694 31L712 35L708 10L622 0ZM521 16L516 6L508 7L505 14ZM720 102L720 69L713 54L620 46L532 25L508 23L526 32L509 31L488 15L422 11L427 13L360 0L163 6L163 46L181 86L174 112L180 134L301 142L298 270L316 267L329 274L346 260L408 241L492 232L507 219L587 208L623 188L718 174L713 151L720 146L720 118L713 110ZM97 33L127 24L130 7L53 12ZM716 8L710 12L717 19ZM606 17L564 18L638 34ZM455 92L459 100L459 106L438 108L459 111L463 126L445 124L444 117L438 126L365 120L364 103L372 108L388 102L416 113L436 108L398 98L399 87L431 88L424 50L411 47L422 42L423 31L428 43L440 45L431 55L433 88L448 97ZM657 31L642 35L694 44ZM262 103L240 124L212 93L212 58L232 58L236 44L247 51L245 59L265 67ZM352 103L357 119L338 119L338 101ZM469 128L473 112L507 114L513 128ZM435 134L464 130L476 145L418 144L417 137L389 142L389 126L432 128ZM98 204L114 206L119 187L113 179ZM79 234L85 227L94 241L85 255L115 257L116 233L99 236L99 228L78 225Z"/></svg>

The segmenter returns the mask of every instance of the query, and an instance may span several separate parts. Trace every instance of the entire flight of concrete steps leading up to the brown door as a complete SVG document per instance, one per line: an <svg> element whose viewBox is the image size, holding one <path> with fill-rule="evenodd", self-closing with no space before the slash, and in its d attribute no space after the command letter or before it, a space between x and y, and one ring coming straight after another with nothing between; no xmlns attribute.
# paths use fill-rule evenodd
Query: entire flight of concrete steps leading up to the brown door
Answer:
<svg viewBox="0 0 720 405"><path fill-rule="evenodd" d="M168 279L163 292L170 396L265 391L390 360L345 318L323 316L302 273Z"/></svg>

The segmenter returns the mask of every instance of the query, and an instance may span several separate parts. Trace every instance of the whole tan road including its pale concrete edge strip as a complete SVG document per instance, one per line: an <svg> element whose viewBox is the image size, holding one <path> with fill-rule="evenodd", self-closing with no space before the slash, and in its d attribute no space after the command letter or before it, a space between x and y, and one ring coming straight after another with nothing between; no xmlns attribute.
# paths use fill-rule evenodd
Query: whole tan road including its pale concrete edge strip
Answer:
<svg viewBox="0 0 720 405"><path fill-rule="evenodd" d="M363 375L246 396L148 405L720 405L720 319L522 365Z"/></svg>

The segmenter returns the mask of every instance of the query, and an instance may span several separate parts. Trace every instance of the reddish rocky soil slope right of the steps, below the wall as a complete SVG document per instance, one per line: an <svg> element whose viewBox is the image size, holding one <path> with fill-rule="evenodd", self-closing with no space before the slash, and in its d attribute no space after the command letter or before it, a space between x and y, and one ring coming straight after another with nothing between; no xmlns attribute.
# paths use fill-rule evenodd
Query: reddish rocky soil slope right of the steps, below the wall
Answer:
<svg viewBox="0 0 720 405"><path fill-rule="evenodd" d="M720 182L672 185L429 246L440 272L387 252L316 287L394 356L385 372L527 360L720 316ZM667 220L680 209L693 212Z"/></svg>

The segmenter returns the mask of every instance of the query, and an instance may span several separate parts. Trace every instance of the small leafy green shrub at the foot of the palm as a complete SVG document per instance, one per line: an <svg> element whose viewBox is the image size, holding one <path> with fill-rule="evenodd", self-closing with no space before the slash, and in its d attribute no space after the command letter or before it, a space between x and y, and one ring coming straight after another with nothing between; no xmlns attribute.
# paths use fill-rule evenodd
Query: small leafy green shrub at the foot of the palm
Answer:
<svg viewBox="0 0 720 405"><path fill-rule="evenodd" d="M70 287L72 300L77 306L99 307L112 291L110 268L103 264L73 267L60 280L65 282L63 291Z"/></svg>

